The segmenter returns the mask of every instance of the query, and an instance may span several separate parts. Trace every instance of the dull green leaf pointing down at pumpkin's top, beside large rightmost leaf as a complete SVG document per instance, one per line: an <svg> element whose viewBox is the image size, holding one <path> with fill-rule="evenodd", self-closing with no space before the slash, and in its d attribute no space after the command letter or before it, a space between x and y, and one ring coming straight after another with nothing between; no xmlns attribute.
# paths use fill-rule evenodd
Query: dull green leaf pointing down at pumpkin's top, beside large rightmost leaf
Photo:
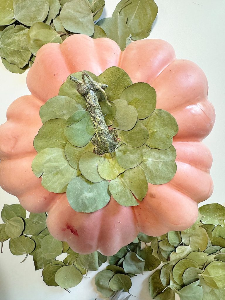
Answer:
<svg viewBox="0 0 225 300"><path fill-rule="evenodd" d="M123 51L126 48L126 40L130 35L127 26L127 18L117 15L113 18L104 18L96 23L103 28L107 38L115 41Z"/></svg>

